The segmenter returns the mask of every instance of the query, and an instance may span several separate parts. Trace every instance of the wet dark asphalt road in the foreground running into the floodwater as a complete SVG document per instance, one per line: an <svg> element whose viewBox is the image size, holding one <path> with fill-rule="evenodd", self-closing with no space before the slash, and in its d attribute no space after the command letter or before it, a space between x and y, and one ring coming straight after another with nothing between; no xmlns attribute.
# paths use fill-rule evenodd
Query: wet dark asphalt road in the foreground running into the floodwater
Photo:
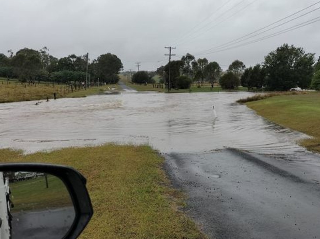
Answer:
<svg viewBox="0 0 320 239"><path fill-rule="evenodd" d="M320 237L318 166L234 149L165 158L174 186L188 193L186 211L210 238Z"/></svg>

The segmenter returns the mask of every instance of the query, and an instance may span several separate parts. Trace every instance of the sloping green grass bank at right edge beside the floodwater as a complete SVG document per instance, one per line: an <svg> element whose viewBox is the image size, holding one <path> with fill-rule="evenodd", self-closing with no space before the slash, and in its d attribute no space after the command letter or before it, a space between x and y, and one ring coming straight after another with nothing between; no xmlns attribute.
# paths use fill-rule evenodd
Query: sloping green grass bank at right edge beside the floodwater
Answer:
<svg viewBox="0 0 320 239"><path fill-rule="evenodd" d="M280 95L247 103L261 116L313 138L302 140L300 145L320 153L320 93Z"/></svg>

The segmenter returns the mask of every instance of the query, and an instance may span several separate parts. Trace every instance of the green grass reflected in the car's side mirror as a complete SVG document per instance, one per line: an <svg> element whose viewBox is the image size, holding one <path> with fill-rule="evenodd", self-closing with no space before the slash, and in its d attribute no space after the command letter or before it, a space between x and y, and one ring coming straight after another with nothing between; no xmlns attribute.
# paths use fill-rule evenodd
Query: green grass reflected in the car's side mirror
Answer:
<svg viewBox="0 0 320 239"><path fill-rule="evenodd" d="M40 210L72 205L68 191L62 181L48 175L48 188L45 177L40 176L25 181L10 183L12 212Z"/></svg>

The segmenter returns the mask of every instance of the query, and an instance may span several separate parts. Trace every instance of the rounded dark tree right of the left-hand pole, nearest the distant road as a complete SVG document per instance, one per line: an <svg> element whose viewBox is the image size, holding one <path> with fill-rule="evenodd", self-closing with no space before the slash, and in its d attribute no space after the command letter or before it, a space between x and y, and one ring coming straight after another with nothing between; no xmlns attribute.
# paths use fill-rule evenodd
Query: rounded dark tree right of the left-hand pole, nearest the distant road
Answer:
<svg viewBox="0 0 320 239"><path fill-rule="evenodd" d="M117 75L122 69L122 62L116 55L107 53L97 58L96 71L100 81L116 84L119 81Z"/></svg>

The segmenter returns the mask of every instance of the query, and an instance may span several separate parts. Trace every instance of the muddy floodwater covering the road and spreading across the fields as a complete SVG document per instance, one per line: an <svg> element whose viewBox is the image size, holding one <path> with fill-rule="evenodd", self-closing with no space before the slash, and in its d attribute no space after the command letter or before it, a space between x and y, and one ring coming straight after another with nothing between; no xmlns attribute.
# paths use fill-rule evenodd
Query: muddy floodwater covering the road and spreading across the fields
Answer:
<svg viewBox="0 0 320 239"><path fill-rule="evenodd" d="M148 144L160 152L228 147L263 154L305 150L307 137L235 103L250 93L120 93L0 104L0 146L26 153L106 142ZM213 108L214 106L214 108Z"/></svg>

